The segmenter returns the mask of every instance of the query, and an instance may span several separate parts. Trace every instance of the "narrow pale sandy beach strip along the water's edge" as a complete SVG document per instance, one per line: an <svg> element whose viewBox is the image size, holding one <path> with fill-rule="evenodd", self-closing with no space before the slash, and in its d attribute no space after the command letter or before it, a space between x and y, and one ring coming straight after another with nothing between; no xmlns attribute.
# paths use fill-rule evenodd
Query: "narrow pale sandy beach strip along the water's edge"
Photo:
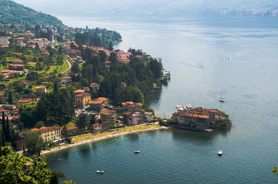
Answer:
<svg viewBox="0 0 278 184"><path fill-rule="evenodd" d="M155 131L155 130L159 130L159 129L167 129L169 127L165 127L165 126L157 126L156 128L152 127L151 128L147 128L147 129L143 129L143 130L140 130L140 131L126 131L126 132L122 132L122 133L113 133L111 135L104 135L102 137L97 137L95 139L90 139L90 140L83 140L81 142L76 142L76 143L73 143L73 144L67 144L67 145L62 145L60 147L56 147L54 149L51 149L51 150L44 150L44 151L41 151L40 152L40 155L45 155L47 153L51 153L51 152L54 152L54 151L58 151L58 150L61 150L61 149L67 149L67 148L70 148L70 147L76 147L76 146L79 146L81 144L87 144L89 142L94 142L94 141L97 141L97 140L104 140L104 139L108 139L108 138L111 138L111 137L117 137L117 136L122 136L122 135L126 135L126 134L129 134L129 133L138 133L138 132L142 132L142 131ZM85 135L85 134L84 134ZM81 135L77 135L77 136L81 136ZM74 136L76 137L76 136ZM74 137L72 137L72 139L74 140Z"/></svg>

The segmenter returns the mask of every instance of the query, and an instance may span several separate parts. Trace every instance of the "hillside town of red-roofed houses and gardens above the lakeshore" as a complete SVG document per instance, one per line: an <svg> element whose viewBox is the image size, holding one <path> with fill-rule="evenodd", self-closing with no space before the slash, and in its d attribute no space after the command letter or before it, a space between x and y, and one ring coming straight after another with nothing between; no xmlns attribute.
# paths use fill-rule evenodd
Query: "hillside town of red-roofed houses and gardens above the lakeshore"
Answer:
<svg viewBox="0 0 278 184"><path fill-rule="evenodd" d="M10 131L10 134L13 134L10 144L14 145L17 151L28 149L25 141L28 133L39 133L44 141L44 149L51 149L60 144L69 144L71 142L69 137L74 135L95 134L117 130L124 126L158 121L154 111L145 105L141 97L143 94L140 90L143 88L134 85L136 79L116 81L120 91L131 95L125 99L133 99L133 101L121 99L115 102L115 99L109 98L115 94L111 96L104 91L102 93L106 95L101 96L101 90L106 90L101 85L104 84L104 78L100 79L95 75L92 78L96 80L93 81L84 76L85 72L82 69L86 68L90 60L86 58L86 54L92 54L91 56L101 59L101 63L93 64L99 65L99 74L102 70L110 75L109 73L113 72L116 65L121 67L134 65L134 60L145 63L142 67L147 67L148 62L152 62L151 56L142 50L129 49L125 52L111 49L115 42L121 41L117 33L106 29L91 29L92 33L94 31L109 33L109 38L112 38L107 42L108 44L105 44L105 39L101 40L102 46L100 46L100 44L95 44L97 41L80 44L72 40L80 32L67 26L63 28L35 25L27 28L21 24L0 24L0 26L0 52L4 56L0 60L0 100L2 103L0 121L3 125L13 127L13 131ZM85 31L90 33L87 28L81 29L81 32ZM110 36L113 34L115 37ZM49 72L49 69L52 72ZM150 88L159 85L163 77L161 69L162 67L158 67L158 73L154 73L157 79L152 81L154 85L149 83ZM95 69L91 72L95 72ZM83 83L83 81L86 82ZM47 95L52 97L55 92L63 90L67 90L70 94L70 102L67 106L66 102L62 101L61 105L73 110L73 113L63 111L64 120L67 119L65 123L51 122L46 114L37 118L37 112L27 115L29 110L44 103ZM53 106L58 105L54 102ZM51 107L49 108L51 110ZM52 115L53 113L49 116ZM28 120L30 118L37 120L30 123Z"/></svg>

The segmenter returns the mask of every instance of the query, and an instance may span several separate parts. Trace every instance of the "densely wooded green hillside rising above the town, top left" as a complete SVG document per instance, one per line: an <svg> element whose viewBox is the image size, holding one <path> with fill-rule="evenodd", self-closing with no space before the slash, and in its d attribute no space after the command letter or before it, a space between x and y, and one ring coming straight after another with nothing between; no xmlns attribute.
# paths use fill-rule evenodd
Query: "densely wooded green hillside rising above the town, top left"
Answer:
<svg viewBox="0 0 278 184"><path fill-rule="evenodd" d="M64 26L56 17L37 12L10 0L0 0L0 22L1 24Z"/></svg>

